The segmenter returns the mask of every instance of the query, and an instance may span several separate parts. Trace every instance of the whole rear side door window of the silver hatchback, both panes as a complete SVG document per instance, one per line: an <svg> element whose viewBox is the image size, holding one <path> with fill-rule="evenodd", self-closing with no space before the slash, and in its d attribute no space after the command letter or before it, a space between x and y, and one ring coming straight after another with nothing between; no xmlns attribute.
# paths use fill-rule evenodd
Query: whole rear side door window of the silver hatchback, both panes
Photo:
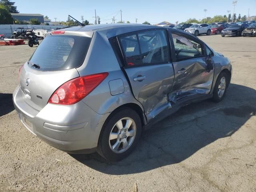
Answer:
<svg viewBox="0 0 256 192"><path fill-rule="evenodd" d="M163 30L138 32L119 40L128 66L168 62L168 44Z"/></svg>

